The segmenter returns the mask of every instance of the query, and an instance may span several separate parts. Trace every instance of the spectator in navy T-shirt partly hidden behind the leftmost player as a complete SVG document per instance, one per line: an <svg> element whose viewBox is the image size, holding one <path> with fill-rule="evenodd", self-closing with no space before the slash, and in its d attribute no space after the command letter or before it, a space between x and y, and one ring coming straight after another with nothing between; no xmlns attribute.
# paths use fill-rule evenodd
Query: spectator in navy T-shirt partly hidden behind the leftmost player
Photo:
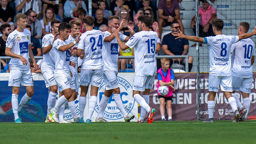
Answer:
<svg viewBox="0 0 256 144"><path fill-rule="evenodd" d="M26 29L28 29L31 33L31 27L29 25L26 26ZM31 40L31 50L34 56L42 56L42 48L39 40L34 36L31 36L30 40ZM32 62L32 66L33 66L33 62Z"/></svg>

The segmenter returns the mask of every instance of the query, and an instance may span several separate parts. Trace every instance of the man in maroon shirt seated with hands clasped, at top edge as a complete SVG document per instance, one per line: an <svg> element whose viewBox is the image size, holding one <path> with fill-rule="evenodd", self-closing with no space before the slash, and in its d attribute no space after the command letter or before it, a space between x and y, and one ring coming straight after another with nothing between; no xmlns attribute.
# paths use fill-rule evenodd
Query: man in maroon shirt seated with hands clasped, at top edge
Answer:
<svg viewBox="0 0 256 144"><path fill-rule="evenodd" d="M161 38L163 26L170 26L173 21L179 22L180 31L184 33L184 27L180 19L180 7L178 1L161 0L158 4L158 17L159 38Z"/></svg>

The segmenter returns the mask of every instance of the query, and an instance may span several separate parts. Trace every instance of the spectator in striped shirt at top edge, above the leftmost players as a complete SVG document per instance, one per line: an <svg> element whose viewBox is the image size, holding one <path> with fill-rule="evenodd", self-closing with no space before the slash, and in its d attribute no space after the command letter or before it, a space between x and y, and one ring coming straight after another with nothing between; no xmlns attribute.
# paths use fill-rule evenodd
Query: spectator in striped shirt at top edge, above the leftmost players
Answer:
<svg viewBox="0 0 256 144"><path fill-rule="evenodd" d="M31 5L32 3L33 5ZM26 13L28 10L33 10L33 12L35 12L36 14L36 19L39 18L41 13L41 7L36 0L17 0L16 5L17 11L21 11L21 13Z"/></svg>

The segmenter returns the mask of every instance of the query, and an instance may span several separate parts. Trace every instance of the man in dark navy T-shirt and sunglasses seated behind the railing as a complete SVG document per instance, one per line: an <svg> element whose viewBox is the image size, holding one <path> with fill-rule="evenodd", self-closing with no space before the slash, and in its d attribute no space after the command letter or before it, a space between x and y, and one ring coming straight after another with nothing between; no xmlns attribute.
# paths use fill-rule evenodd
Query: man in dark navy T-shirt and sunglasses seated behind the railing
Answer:
<svg viewBox="0 0 256 144"><path fill-rule="evenodd" d="M188 54L188 40L183 38L175 39L176 36L173 36L173 32L180 32L180 24L177 21L174 21L171 24L172 32L163 37L162 48L163 52L166 55L187 55ZM172 65L173 60L171 60ZM180 63L185 65L185 59L174 59L174 63ZM193 57L189 56L188 58L188 71L191 71L193 64Z"/></svg>

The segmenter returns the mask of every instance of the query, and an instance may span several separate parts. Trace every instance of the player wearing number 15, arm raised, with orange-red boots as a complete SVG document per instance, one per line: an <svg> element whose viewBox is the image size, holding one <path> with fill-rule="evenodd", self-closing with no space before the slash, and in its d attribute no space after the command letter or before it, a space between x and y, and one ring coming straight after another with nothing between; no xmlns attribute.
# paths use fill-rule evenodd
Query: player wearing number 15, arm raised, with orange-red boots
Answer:
<svg viewBox="0 0 256 144"><path fill-rule="evenodd" d="M112 28L112 32L121 50L134 47L135 74L132 84L132 96L148 112L148 123L152 123L156 110L149 107L145 97L148 98L149 102L149 92L153 88L156 76L155 50L158 35L156 32L149 31L151 26L151 18L149 16L142 15L137 20L139 21L140 32L135 33L125 44L121 41L120 34L116 28ZM140 92L143 92L143 97L140 96ZM143 123L143 119L138 123Z"/></svg>

